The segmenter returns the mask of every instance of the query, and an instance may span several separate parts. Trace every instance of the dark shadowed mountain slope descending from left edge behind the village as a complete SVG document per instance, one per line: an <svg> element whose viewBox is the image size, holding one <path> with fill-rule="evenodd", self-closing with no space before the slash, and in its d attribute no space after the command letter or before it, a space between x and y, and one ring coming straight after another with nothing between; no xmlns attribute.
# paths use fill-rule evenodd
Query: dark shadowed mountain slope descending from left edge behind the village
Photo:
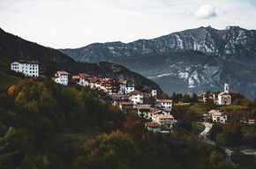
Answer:
<svg viewBox="0 0 256 169"><path fill-rule="evenodd" d="M30 57L41 62L41 68L53 63L58 70L65 70L72 74L86 72L96 77L114 77L119 81L131 80L134 84L150 85L162 93L162 89L154 81L142 77L138 73L126 69L124 66L110 62L76 62L70 56L64 55L53 48L45 48L34 42L23 40L11 33L5 33L0 28L0 57L20 59Z"/></svg>

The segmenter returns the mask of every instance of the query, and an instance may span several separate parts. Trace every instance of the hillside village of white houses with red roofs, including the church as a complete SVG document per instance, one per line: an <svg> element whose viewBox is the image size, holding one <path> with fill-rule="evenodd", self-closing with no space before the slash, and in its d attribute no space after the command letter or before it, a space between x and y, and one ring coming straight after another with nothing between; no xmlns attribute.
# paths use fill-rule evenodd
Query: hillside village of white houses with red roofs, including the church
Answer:
<svg viewBox="0 0 256 169"><path fill-rule="evenodd" d="M11 62L11 70L23 73L26 77L39 77L39 62L20 60L19 62ZM79 75L71 76L66 71L56 71L54 81L63 85L81 85L89 86L92 92L105 92L114 106L119 107L126 112L128 109L136 111L139 117L147 119L145 127L154 132L169 133L173 125L177 124L172 113L172 99L157 99L157 91L150 86L144 86L139 90L135 90L135 86L131 81L124 80L118 82L111 77L93 77L87 73L79 73ZM148 99L153 104L144 103ZM224 92L215 97L215 93L204 92L199 96L198 101L202 104L207 99L213 99L216 105L230 105L231 96L229 94L229 84L225 81ZM190 105L190 103L179 102L178 106ZM227 123L228 115L222 110L210 110L206 114L207 121L217 123ZM244 122L244 121L243 121ZM246 120L248 124L253 125L254 120Z"/></svg>

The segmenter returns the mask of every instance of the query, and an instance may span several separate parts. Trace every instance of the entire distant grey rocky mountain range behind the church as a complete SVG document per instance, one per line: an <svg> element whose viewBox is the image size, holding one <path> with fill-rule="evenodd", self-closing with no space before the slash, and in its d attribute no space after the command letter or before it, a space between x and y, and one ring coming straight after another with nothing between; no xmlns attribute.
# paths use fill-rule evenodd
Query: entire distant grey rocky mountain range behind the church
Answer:
<svg viewBox="0 0 256 169"><path fill-rule="evenodd" d="M152 40L59 49L78 62L108 61L154 80L164 92L223 91L256 98L256 31L239 26L189 29Z"/></svg>

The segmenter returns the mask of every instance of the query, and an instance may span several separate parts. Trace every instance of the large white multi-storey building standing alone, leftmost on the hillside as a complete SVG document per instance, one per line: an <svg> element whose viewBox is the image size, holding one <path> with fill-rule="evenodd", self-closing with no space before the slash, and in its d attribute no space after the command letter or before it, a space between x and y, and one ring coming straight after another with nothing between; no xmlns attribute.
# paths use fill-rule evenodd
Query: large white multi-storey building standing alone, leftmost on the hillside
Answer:
<svg viewBox="0 0 256 169"><path fill-rule="evenodd" d="M11 70L23 73L26 77L39 77L39 62L26 60L11 62Z"/></svg>

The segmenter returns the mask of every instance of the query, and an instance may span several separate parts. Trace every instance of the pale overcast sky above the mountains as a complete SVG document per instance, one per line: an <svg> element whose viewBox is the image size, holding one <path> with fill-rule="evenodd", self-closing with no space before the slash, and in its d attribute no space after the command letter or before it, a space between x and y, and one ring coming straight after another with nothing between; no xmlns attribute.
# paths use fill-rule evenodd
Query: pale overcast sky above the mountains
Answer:
<svg viewBox="0 0 256 169"><path fill-rule="evenodd" d="M200 26L256 29L256 0L0 0L5 32L51 48L153 39Z"/></svg>

